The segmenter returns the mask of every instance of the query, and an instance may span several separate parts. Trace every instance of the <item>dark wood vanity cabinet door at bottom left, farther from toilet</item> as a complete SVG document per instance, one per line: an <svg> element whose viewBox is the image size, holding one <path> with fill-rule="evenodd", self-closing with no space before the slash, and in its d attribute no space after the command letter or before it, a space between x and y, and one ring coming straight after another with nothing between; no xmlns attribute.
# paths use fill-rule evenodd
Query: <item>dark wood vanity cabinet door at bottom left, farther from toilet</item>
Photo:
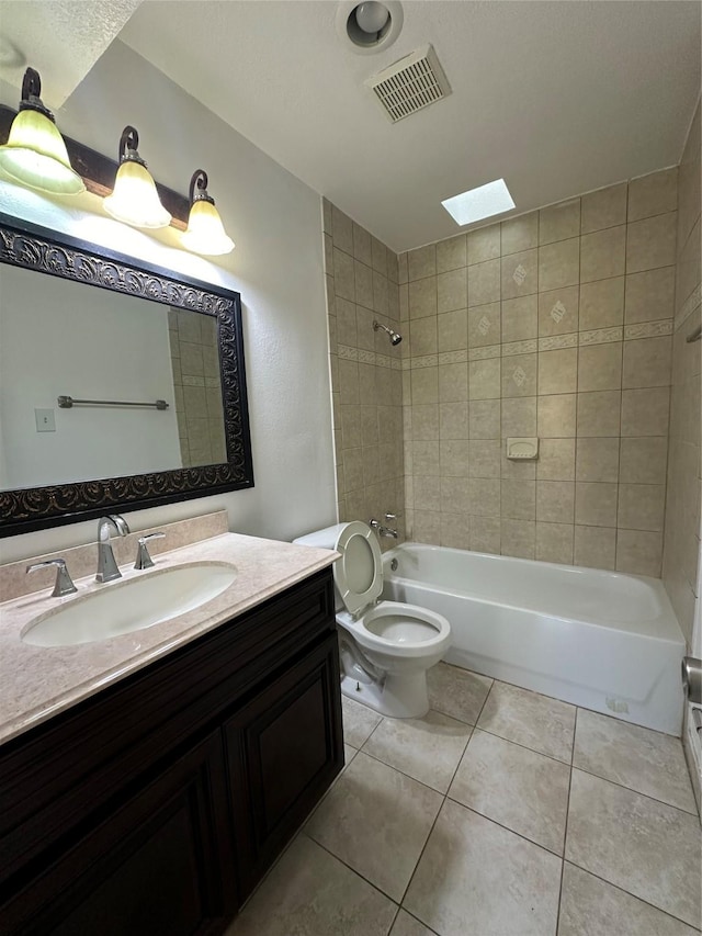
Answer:
<svg viewBox="0 0 702 936"><path fill-rule="evenodd" d="M237 906L219 731L37 872L0 910L26 936L219 933Z"/></svg>

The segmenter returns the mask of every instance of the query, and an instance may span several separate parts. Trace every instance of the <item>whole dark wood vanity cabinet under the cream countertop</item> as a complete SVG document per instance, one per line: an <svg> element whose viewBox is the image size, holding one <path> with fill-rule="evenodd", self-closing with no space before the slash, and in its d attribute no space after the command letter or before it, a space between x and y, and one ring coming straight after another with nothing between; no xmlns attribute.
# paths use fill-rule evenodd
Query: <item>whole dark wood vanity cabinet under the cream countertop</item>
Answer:
<svg viewBox="0 0 702 936"><path fill-rule="evenodd" d="M222 933L342 764L326 570L0 748L0 932Z"/></svg>

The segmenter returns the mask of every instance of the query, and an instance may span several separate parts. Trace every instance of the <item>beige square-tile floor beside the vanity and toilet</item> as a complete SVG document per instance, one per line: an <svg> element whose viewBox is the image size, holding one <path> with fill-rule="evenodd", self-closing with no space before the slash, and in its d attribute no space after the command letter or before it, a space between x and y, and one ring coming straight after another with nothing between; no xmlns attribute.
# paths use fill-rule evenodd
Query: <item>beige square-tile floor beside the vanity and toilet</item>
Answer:
<svg viewBox="0 0 702 936"><path fill-rule="evenodd" d="M227 936L694 936L676 738L439 664L423 719L343 699L347 766Z"/></svg>

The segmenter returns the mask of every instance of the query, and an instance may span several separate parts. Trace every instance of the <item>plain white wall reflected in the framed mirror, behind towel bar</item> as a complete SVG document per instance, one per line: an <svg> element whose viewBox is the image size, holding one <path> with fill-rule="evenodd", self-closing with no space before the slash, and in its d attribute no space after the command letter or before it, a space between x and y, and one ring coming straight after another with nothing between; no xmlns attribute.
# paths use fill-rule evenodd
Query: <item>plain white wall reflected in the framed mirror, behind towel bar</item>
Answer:
<svg viewBox="0 0 702 936"><path fill-rule="evenodd" d="M4 264L0 294L3 488L181 466L167 306ZM60 409L59 395L170 407ZM35 408L56 431L37 432Z"/></svg>

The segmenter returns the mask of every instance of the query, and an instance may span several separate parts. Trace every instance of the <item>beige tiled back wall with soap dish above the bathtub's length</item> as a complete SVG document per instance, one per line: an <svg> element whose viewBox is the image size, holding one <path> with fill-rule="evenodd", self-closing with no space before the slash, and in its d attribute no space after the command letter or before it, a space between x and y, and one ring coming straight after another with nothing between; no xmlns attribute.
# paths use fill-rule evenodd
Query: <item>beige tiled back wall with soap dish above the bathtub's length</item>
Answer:
<svg viewBox="0 0 702 936"><path fill-rule="evenodd" d="M673 168L400 255L408 537L660 575L676 208Z"/></svg>

